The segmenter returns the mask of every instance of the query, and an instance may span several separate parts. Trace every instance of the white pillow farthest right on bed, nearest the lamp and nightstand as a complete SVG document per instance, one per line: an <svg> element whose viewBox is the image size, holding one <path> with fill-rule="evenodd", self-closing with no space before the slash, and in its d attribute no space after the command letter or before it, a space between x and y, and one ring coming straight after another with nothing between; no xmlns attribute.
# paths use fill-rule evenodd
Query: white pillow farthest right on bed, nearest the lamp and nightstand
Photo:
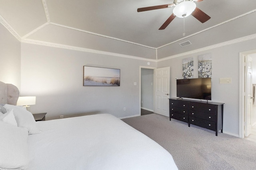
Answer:
<svg viewBox="0 0 256 170"><path fill-rule="evenodd" d="M5 104L4 108L6 108L7 111L13 109L13 113L17 121L18 127L25 127L26 129L28 129L29 135L41 132L36 126L36 121L32 113L30 113L23 107Z"/></svg>

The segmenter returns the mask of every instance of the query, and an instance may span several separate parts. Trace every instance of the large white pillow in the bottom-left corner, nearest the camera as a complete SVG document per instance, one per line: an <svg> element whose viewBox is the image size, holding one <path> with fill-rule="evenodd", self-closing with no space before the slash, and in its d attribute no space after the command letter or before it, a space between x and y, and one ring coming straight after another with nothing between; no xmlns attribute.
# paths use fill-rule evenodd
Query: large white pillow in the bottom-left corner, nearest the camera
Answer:
<svg viewBox="0 0 256 170"><path fill-rule="evenodd" d="M0 121L0 169L26 169L28 131Z"/></svg>

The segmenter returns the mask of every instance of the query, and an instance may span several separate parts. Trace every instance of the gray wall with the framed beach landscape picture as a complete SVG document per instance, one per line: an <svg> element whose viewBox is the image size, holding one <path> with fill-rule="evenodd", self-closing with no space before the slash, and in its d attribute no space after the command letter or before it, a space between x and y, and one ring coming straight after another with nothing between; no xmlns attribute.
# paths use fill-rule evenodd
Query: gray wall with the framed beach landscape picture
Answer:
<svg viewBox="0 0 256 170"><path fill-rule="evenodd" d="M46 119L91 113L140 114L139 69L148 61L28 43L22 43L21 51L21 96L36 96L31 112L47 112ZM83 66L119 68L120 86L83 86Z"/></svg>

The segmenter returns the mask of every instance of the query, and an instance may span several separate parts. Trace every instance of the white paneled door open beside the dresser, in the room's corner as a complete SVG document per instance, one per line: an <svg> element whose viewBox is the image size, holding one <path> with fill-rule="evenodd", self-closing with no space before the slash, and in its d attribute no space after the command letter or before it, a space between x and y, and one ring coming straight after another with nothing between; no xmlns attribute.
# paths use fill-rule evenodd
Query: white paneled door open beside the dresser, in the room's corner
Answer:
<svg viewBox="0 0 256 170"><path fill-rule="evenodd" d="M154 69L155 106L154 113L169 115L170 67Z"/></svg>

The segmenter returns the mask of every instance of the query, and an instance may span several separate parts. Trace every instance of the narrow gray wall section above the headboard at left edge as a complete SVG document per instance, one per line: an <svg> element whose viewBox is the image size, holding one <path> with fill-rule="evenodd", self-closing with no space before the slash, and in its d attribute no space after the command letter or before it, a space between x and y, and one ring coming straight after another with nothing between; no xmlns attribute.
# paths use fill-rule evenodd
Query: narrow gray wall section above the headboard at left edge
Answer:
<svg viewBox="0 0 256 170"><path fill-rule="evenodd" d="M0 81L20 87L20 41L0 24Z"/></svg>

